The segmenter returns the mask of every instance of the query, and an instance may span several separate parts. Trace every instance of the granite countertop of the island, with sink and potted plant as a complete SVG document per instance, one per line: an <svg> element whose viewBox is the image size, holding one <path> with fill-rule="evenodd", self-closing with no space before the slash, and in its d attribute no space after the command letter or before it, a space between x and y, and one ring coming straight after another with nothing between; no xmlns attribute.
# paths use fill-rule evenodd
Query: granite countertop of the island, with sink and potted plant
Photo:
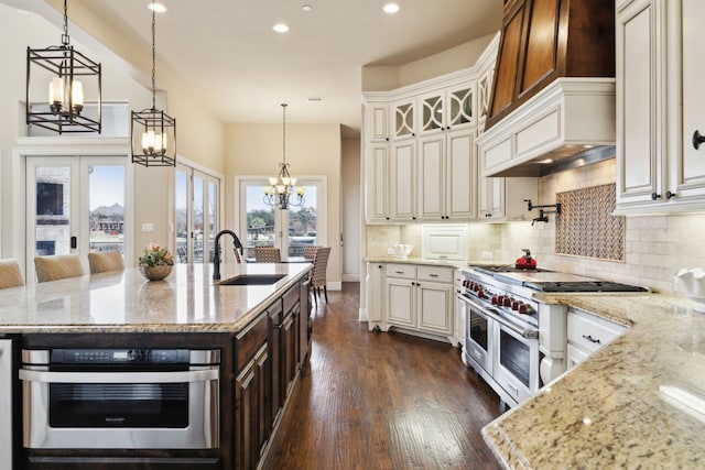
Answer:
<svg viewBox="0 0 705 470"><path fill-rule="evenodd" d="M308 263L224 264L221 277L283 274L272 285L219 286L213 265L177 264L164 281L138 269L0 291L0 334L238 331L282 295Z"/></svg>

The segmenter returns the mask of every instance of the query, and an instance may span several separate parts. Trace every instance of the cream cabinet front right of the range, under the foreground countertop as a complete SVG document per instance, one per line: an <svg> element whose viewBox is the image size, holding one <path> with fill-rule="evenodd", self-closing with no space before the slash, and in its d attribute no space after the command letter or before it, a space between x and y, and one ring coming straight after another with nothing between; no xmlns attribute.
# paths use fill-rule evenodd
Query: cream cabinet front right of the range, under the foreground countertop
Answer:
<svg viewBox="0 0 705 470"><path fill-rule="evenodd" d="M567 369L583 362L589 354L614 341L627 327L578 308L567 314Z"/></svg>

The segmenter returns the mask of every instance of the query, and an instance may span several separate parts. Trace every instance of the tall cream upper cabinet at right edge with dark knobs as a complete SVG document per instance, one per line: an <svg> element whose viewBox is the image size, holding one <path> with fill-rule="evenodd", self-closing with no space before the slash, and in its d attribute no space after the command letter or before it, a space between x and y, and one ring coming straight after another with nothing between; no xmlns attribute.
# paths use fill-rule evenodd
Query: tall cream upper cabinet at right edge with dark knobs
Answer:
<svg viewBox="0 0 705 470"><path fill-rule="evenodd" d="M698 0L617 8L617 211L705 210L705 11Z"/></svg>

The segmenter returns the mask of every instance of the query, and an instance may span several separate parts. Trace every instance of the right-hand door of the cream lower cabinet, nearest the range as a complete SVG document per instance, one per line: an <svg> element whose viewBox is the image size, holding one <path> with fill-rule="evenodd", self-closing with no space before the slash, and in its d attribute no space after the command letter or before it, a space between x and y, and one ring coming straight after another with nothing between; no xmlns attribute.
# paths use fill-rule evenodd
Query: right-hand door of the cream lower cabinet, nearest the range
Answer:
<svg viewBox="0 0 705 470"><path fill-rule="evenodd" d="M453 285L421 282L416 285L419 329L453 335Z"/></svg>

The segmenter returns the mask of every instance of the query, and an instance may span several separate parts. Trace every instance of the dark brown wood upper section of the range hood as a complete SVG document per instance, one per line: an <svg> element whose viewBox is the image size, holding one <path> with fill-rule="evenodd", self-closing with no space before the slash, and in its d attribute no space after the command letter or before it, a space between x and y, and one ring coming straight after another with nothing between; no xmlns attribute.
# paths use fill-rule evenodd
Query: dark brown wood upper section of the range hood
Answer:
<svg viewBox="0 0 705 470"><path fill-rule="evenodd" d="M614 77L614 0L505 2L489 129L557 77Z"/></svg>

